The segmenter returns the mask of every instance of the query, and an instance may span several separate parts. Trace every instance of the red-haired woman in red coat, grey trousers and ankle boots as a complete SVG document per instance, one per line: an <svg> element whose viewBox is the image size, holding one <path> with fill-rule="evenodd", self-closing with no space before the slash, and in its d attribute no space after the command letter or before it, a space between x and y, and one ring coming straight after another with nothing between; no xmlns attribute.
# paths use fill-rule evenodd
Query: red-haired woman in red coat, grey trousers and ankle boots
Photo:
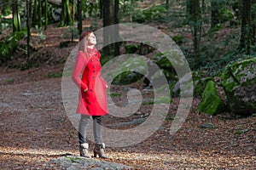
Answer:
<svg viewBox="0 0 256 170"><path fill-rule="evenodd" d="M95 47L96 37L92 31L84 31L79 37L79 53L73 68L72 79L80 88L77 113L81 114L79 122L80 156L90 158L89 144L86 141L90 117L93 119L95 139L94 156L107 158L102 143L102 116L108 114L107 82L101 76L101 54ZM80 74L82 77L80 78Z"/></svg>

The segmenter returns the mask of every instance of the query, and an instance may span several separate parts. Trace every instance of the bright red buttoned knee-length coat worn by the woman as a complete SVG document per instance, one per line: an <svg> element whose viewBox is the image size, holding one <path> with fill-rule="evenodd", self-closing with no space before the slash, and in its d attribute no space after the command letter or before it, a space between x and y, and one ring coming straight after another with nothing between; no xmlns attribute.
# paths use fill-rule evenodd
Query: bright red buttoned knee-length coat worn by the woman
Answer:
<svg viewBox="0 0 256 170"><path fill-rule="evenodd" d="M101 54L96 48L88 48L87 54L86 58L84 52L79 51L72 73L73 82L80 88L77 113L90 116L107 115L107 83L101 75ZM88 90L84 92L84 89Z"/></svg>

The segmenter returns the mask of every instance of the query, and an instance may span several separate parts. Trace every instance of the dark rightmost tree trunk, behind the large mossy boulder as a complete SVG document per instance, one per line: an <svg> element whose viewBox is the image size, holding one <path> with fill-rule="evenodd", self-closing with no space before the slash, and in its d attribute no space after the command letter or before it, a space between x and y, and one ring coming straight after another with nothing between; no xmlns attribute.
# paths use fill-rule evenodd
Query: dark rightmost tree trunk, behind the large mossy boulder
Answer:
<svg viewBox="0 0 256 170"><path fill-rule="evenodd" d="M243 0L241 13L241 38L239 49L245 49L246 54L250 54L253 42L252 29L252 0Z"/></svg>

